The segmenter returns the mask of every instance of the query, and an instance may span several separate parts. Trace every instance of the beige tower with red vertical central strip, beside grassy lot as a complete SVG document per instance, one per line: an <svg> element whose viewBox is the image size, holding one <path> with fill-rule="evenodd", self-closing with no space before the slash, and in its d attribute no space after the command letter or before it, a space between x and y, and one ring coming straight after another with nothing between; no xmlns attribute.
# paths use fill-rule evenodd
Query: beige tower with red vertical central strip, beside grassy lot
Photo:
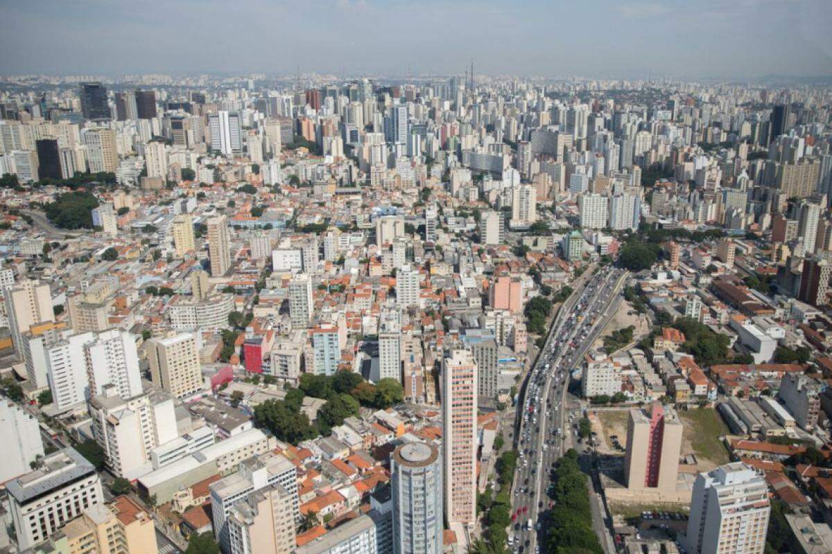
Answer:
<svg viewBox="0 0 832 554"><path fill-rule="evenodd" d="M650 417L631 409L627 424L624 474L627 488L676 492L682 425L676 411L653 404Z"/></svg>

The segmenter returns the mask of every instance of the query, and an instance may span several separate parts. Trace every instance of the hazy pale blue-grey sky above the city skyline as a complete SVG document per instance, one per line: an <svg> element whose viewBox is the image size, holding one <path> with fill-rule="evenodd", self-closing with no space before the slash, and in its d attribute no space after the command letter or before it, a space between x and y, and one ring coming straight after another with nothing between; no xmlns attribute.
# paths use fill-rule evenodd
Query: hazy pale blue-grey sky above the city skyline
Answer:
<svg viewBox="0 0 832 554"><path fill-rule="evenodd" d="M832 75L832 0L0 0L0 73Z"/></svg>

